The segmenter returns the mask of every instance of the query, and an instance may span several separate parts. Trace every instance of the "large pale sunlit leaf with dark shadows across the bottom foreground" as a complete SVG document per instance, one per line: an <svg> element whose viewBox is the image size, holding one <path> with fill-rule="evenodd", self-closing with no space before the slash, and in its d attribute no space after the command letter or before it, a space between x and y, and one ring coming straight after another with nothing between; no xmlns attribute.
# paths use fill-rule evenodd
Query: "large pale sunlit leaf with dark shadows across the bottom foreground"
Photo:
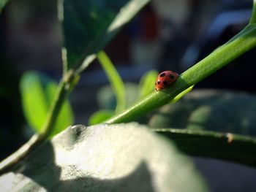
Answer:
<svg viewBox="0 0 256 192"><path fill-rule="evenodd" d="M0 191L207 191L173 143L137 123L73 126L0 177Z"/></svg>

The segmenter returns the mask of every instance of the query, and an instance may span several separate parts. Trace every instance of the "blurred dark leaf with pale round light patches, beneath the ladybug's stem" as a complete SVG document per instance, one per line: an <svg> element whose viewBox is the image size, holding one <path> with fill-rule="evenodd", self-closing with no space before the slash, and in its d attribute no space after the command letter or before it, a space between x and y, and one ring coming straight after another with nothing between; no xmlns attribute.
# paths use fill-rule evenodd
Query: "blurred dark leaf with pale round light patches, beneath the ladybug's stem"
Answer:
<svg viewBox="0 0 256 192"><path fill-rule="evenodd" d="M255 136L256 97L231 91L196 90L151 117L154 128L188 128Z"/></svg>

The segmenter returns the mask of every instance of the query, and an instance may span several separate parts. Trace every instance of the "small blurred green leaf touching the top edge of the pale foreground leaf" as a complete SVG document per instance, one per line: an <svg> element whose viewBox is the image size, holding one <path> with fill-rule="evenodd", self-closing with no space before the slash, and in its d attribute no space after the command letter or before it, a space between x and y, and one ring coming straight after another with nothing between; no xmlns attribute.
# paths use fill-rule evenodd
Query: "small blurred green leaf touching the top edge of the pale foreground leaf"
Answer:
<svg viewBox="0 0 256 192"><path fill-rule="evenodd" d="M108 118L112 117L114 114L115 112L110 110L99 110L97 112L94 112L94 114L92 114L91 117L89 118L89 125L102 123Z"/></svg>

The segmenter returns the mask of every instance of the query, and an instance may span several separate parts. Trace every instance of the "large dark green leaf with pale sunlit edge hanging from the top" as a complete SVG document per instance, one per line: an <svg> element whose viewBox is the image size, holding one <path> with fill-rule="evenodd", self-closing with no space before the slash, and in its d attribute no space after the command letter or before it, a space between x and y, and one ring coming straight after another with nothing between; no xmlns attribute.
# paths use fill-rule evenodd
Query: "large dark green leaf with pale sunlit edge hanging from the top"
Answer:
<svg viewBox="0 0 256 192"><path fill-rule="evenodd" d="M85 68L91 59L86 60L83 66L80 66L81 61L102 50L148 1L64 0L59 15L64 15L64 44L68 61L65 70Z"/></svg>

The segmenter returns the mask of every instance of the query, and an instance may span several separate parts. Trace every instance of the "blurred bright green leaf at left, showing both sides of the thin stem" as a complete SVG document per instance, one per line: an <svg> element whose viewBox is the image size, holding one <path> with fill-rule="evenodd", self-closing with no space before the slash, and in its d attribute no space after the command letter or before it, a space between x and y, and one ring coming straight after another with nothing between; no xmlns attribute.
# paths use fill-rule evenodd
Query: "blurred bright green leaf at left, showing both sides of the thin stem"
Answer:
<svg viewBox="0 0 256 192"><path fill-rule="evenodd" d="M20 92L22 96L23 112L29 125L35 131L40 132L45 123L50 108L50 103L56 93L57 84L43 74L27 72L20 80ZM54 134L67 128L73 123L73 112L66 101L53 128Z"/></svg>

